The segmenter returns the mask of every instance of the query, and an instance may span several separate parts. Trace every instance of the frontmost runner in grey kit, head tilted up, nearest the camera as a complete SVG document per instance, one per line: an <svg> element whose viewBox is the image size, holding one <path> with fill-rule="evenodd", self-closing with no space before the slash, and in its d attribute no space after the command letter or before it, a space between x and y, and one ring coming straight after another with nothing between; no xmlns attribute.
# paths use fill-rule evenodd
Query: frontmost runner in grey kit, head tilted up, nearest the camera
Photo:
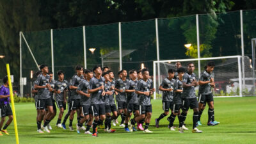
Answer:
<svg viewBox="0 0 256 144"><path fill-rule="evenodd" d="M106 118L106 108L104 103L104 77L102 77L101 67L95 66L93 68L95 76L90 80L90 89L88 93L92 93L92 111L94 115L93 127L92 127L92 136L97 136L97 125L103 124L104 119Z"/></svg>

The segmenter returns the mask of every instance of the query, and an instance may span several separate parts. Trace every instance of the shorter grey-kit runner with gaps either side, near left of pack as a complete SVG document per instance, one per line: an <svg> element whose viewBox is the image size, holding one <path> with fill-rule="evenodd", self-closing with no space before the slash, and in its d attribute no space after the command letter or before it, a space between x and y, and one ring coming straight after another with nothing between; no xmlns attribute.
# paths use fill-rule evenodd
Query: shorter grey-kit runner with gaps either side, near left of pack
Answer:
<svg viewBox="0 0 256 144"><path fill-rule="evenodd" d="M58 116L56 126L62 128L61 119L62 119L62 116L64 113L64 107L67 103L66 93L67 93L68 82L66 80L64 80L64 72L63 71L59 70L57 72L57 74L58 74L58 81L56 81L56 83L55 83L54 93L55 93L56 104L58 106L58 109L60 109L60 113Z"/></svg>

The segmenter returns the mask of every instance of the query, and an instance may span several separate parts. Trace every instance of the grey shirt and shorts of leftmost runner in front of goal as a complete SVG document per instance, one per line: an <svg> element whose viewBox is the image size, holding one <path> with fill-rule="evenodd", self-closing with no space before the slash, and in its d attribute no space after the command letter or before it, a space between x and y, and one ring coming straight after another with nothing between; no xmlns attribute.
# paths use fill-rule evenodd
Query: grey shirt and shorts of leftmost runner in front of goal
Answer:
<svg viewBox="0 0 256 144"><path fill-rule="evenodd" d="M174 83L175 83L175 79L168 79L168 78L165 78L161 85L163 88L165 89L169 89L169 88L172 88L174 87ZM163 101L164 102L172 102L172 99L173 99L173 92L170 92L170 91L163 91Z"/></svg>

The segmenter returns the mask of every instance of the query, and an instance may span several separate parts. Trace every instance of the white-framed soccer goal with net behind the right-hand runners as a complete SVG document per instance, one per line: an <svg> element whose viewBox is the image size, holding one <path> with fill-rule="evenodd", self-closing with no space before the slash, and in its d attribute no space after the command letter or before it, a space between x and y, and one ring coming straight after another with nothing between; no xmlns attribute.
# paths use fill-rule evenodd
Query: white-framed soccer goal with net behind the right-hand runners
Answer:
<svg viewBox="0 0 256 144"><path fill-rule="evenodd" d="M204 67L209 61L214 61L214 81L215 88L212 88L214 96L218 97L242 97L255 95L255 75L250 58L242 56L224 56L200 59L163 60L154 61L154 99L161 98L159 85L164 78L168 77L168 69L177 69L175 63L180 61L182 67L187 68L187 63L195 63L196 79L204 72ZM198 63L200 62L200 67ZM196 96L198 96L198 86L196 86Z"/></svg>

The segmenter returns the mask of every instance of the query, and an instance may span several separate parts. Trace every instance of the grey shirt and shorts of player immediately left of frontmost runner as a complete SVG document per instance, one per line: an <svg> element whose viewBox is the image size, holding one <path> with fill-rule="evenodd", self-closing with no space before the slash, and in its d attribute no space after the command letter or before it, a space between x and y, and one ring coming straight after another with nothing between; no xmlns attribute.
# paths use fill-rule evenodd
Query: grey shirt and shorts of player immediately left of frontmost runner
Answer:
<svg viewBox="0 0 256 144"><path fill-rule="evenodd" d="M90 83L84 79L84 81L82 81L78 87L77 90L82 91L84 93L88 93L88 90L90 88ZM85 106L90 106L91 105L91 97L86 97L85 95L81 95L79 94L81 97L81 105L85 105Z"/></svg>

